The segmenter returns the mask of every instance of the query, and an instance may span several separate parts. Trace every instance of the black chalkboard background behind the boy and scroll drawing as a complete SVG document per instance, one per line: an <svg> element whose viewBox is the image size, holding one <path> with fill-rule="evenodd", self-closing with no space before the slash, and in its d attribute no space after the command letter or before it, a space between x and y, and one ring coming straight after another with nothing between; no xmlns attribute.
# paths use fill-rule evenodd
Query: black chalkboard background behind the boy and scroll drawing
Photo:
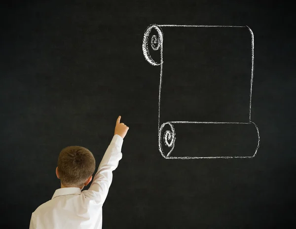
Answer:
<svg viewBox="0 0 296 229"><path fill-rule="evenodd" d="M29 228L32 212L60 188L55 168L64 147L88 148L98 165L118 115L130 129L103 228L294 228L289 8L255 0L3 4L1 228ZM157 30L148 38L150 57L162 66L143 53L150 25L163 33L162 56ZM165 142L159 148L158 128L173 121L203 123L173 123L169 153ZM166 130L160 141L170 142Z"/></svg>

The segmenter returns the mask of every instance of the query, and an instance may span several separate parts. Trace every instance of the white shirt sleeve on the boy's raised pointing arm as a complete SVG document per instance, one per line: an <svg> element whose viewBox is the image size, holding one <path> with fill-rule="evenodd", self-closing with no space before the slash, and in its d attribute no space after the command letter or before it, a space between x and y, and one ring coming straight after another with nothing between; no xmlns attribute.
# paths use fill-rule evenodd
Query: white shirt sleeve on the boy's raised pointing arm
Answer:
<svg viewBox="0 0 296 229"><path fill-rule="evenodd" d="M90 199L94 199L98 204L103 205L112 182L112 171L114 171L122 158L121 147L123 138L114 135L112 141L105 152L103 159L94 176L93 182L88 190L82 191Z"/></svg>

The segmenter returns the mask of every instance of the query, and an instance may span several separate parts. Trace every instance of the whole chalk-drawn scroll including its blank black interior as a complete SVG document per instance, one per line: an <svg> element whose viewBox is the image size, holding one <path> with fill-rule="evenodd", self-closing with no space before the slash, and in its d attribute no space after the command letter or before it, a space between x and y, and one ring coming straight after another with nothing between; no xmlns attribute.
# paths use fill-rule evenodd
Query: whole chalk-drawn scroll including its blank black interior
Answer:
<svg viewBox="0 0 296 229"><path fill-rule="evenodd" d="M150 25L143 53L160 72L163 157L256 155L260 139L251 121L254 35L249 27Z"/></svg>

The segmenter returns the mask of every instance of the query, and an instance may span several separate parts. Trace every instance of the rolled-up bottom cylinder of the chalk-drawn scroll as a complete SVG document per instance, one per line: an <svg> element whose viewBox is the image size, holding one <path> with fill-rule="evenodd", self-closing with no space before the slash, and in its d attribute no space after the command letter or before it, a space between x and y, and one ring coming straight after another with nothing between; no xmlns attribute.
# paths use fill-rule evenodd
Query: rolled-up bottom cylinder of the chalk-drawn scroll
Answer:
<svg viewBox="0 0 296 229"><path fill-rule="evenodd" d="M255 123L163 123L158 146L165 158L253 157L259 148Z"/></svg>

